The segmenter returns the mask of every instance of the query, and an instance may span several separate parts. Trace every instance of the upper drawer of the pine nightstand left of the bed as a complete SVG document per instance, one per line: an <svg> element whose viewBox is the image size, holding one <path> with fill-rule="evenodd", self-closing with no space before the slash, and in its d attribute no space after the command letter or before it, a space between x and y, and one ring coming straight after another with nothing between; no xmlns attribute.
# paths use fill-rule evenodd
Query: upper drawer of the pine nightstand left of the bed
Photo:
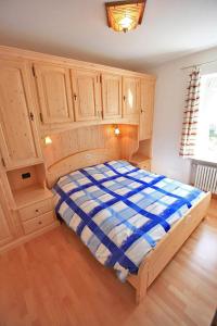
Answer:
<svg viewBox="0 0 217 326"><path fill-rule="evenodd" d="M20 210L20 215L22 221L27 221L40 216L53 209L52 199L47 199L39 201L33 205L26 206Z"/></svg>

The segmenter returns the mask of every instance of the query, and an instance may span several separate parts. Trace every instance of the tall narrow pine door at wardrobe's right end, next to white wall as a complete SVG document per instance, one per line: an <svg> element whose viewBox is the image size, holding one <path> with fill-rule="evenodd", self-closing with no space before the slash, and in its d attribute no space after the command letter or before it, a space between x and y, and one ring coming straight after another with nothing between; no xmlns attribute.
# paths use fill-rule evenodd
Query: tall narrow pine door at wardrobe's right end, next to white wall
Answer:
<svg viewBox="0 0 217 326"><path fill-rule="evenodd" d="M140 140L152 137L154 86L152 80L141 80Z"/></svg>

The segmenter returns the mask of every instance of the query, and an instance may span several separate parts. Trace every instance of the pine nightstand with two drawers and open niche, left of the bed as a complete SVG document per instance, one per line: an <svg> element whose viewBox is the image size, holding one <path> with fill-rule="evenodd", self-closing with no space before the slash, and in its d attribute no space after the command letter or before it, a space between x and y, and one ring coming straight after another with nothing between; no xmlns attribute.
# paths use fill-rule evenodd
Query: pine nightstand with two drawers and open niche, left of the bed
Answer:
<svg viewBox="0 0 217 326"><path fill-rule="evenodd" d="M7 174L21 236L43 233L59 224L54 216L53 193L46 186L42 163L9 171Z"/></svg>

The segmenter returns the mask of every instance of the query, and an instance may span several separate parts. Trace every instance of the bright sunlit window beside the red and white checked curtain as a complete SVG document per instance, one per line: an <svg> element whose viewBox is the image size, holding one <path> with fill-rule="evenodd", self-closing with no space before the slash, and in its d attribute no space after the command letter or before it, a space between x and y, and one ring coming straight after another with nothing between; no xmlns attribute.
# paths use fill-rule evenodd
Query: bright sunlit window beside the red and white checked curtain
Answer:
<svg viewBox="0 0 217 326"><path fill-rule="evenodd" d="M201 78L195 156L217 163L217 74Z"/></svg>

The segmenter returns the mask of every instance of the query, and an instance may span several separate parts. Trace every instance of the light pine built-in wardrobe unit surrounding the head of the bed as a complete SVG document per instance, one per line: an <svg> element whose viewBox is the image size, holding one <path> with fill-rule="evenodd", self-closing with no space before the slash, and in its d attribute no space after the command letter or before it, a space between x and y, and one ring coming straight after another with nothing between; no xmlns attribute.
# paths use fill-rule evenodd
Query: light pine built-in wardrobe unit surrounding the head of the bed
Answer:
<svg viewBox="0 0 217 326"><path fill-rule="evenodd" d="M0 251L58 225L47 173L72 151L106 147L151 168L154 86L152 75L0 47Z"/></svg>

